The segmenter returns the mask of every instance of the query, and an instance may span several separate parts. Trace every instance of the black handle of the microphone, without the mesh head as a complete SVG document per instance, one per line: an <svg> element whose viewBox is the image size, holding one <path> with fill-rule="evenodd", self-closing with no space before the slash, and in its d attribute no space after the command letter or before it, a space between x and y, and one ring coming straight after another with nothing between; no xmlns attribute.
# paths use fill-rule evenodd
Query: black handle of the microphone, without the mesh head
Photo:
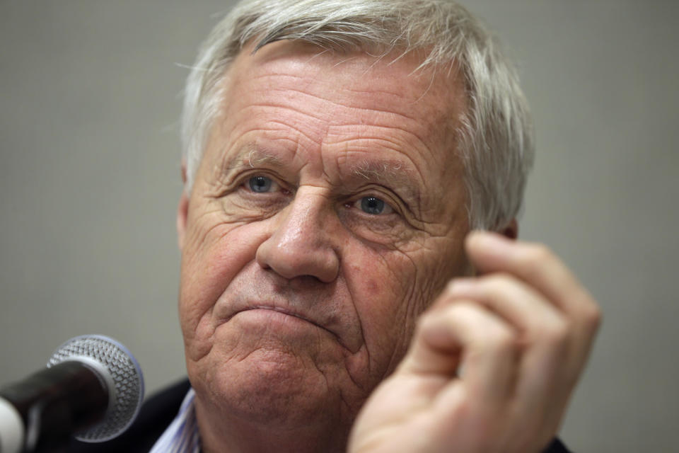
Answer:
<svg viewBox="0 0 679 453"><path fill-rule="evenodd" d="M23 452L49 452L102 420L109 392L91 367L68 360L0 389L0 398L21 415Z"/></svg>

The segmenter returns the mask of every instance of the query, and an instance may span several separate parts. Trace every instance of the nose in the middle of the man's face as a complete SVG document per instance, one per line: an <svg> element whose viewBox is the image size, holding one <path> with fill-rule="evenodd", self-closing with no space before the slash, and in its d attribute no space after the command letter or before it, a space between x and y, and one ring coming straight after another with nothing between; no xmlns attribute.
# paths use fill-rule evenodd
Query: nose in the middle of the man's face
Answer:
<svg viewBox="0 0 679 453"><path fill-rule="evenodd" d="M311 276L332 282L340 258L332 241L332 210L327 197L298 190L294 200L277 214L271 236L257 248L257 263L282 277Z"/></svg>

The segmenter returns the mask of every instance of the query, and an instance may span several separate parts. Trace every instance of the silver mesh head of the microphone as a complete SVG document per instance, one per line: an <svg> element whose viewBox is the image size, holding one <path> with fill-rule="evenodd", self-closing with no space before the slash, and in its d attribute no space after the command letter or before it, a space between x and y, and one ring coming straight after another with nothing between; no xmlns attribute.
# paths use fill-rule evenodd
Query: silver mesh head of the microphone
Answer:
<svg viewBox="0 0 679 453"><path fill-rule="evenodd" d="M112 338L101 335L83 335L71 338L54 352L47 367L66 360L86 357L108 371L104 380L112 383L112 398L103 420L81 432L76 439L84 442L104 442L122 434L137 417L144 398L144 377L134 356ZM100 370L101 371L101 370Z"/></svg>

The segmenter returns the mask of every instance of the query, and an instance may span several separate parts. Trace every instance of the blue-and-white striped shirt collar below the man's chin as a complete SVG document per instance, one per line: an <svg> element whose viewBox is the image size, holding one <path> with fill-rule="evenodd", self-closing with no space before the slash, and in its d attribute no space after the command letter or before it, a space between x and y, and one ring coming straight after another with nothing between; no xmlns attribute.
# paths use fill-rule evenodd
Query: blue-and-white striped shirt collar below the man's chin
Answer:
<svg viewBox="0 0 679 453"><path fill-rule="evenodd" d="M149 453L200 453L200 435L193 403L195 396L195 391L190 389L177 416Z"/></svg>

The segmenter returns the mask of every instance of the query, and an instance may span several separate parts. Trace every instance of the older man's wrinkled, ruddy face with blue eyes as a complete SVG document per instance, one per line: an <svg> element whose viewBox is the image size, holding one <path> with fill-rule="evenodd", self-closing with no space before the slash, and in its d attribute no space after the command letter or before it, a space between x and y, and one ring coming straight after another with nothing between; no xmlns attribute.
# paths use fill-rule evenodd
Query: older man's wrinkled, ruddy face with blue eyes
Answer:
<svg viewBox="0 0 679 453"><path fill-rule="evenodd" d="M199 407L350 425L466 272L463 89L417 64L291 42L234 62L178 219Z"/></svg>

